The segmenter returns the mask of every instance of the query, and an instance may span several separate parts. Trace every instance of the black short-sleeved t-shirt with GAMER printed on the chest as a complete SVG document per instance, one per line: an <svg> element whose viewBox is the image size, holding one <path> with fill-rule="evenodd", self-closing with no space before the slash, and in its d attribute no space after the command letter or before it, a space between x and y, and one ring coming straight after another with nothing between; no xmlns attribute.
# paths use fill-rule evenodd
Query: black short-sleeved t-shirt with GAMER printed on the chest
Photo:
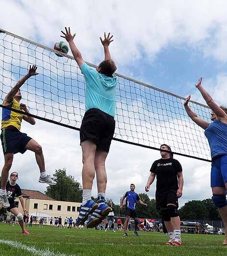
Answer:
<svg viewBox="0 0 227 256"><path fill-rule="evenodd" d="M157 191L178 189L177 173L182 172L182 167L176 159L168 158L156 160L153 162L150 172L156 174Z"/></svg>

